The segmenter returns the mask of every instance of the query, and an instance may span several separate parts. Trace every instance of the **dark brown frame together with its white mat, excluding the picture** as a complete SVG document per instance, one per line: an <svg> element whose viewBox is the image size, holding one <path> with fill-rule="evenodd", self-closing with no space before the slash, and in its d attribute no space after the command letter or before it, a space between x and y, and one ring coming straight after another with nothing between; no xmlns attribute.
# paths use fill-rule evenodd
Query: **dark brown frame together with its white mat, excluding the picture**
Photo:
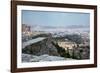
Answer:
<svg viewBox="0 0 100 73"><path fill-rule="evenodd" d="M21 30L23 27L21 24L23 23L23 19L24 19L24 11L22 12L22 10L24 10L24 11L26 10L26 12L27 12L27 10L33 10L33 12L34 12L34 10L36 10L37 13L38 13L38 11L40 11L40 12L42 11L42 12L44 12L44 14L46 14L46 12L50 13L50 11L51 11L50 14L52 14L52 12L58 12L58 15L62 14L63 12L64 13L66 13L66 12L88 13L89 14L89 23L90 23L89 24L89 29L90 29L90 32L89 32L90 37L89 38L92 39L92 40L90 40L90 46L89 46L90 47L89 61L77 60L77 61L73 61L73 62L71 61L70 63L68 62L69 64L66 61L64 61L64 62L63 61L55 61L55 62L45 62L44 61L44 62L38 62L38 63L35 62L35 63L31 63L30 65L28 63L27 63L27 65L25 65L25 64L22 65L22 63L19 63L21 61L20 57L21 57L21 53L22 53L22 51L20 49L21 49L21 45L23 44L23 43L21 44L21 40L23 39L23 38L21 38L22 37ZM60 14L59 14L59 11L61 11ZM49 19L49 17L48 17L48 19ZM44 19L45 19L45 17L44 17ZM59 17L59 19L60 19L60 17ZM76 19L78 19L78 17ZM61 19L59 21L61 21ZM48 23L48 25L49 25L49 23ZM84 27L84 26L82 26L82 27ZM73 28L71 28L71 29L73 29ZM80 63L77 63L79 61L80 61ZM12 73L28 72L28 71L92 68L92 67L97 67L97 6L81 5L81 4L79 5L79 4L64 4L64 3L49 3L49 2L33 2L33 1L11 1L11 72Z"/></svg>

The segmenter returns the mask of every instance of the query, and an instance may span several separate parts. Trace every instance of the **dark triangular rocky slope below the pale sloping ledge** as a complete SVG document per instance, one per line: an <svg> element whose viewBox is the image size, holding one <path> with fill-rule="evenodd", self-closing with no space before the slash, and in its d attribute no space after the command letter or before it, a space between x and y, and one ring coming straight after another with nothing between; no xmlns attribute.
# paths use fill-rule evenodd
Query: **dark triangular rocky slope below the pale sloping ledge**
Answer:
<svg viewBox="0 0 100 73"><path fill-rule="evenodd" d="M56 47L53 46L51 42L52 39L48 37L42 41L26 46L25 48L22 49L22 52L26 54L37 55L37 56L43 54L59 56Z"/></svg>

